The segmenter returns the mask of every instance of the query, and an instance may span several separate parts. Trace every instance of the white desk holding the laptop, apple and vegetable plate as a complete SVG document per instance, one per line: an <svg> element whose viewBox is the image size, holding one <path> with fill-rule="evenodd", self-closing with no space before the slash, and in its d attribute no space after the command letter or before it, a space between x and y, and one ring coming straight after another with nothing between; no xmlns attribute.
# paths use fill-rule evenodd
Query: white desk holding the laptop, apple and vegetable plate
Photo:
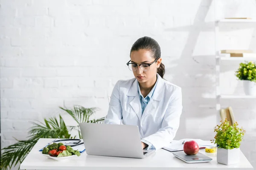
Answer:
<svg viewBox="0 0 256 170"><path fill-rule="evenodd" d="M216 161L216 153L205 153L212 158L211 162L187 164L177 159L167 150L157 150L155 153L145 157L144 159L120 158L110 156L91 156L84 151L81 156L74 157L69 161L55 161L40 155L40 150L48 142L53 139L39 139L32 148L28 156L20 164L20 169L24 170L253 170L252 165L246 159L244 154L240 154L240 163L235 165L218 164Z"/></svg>

